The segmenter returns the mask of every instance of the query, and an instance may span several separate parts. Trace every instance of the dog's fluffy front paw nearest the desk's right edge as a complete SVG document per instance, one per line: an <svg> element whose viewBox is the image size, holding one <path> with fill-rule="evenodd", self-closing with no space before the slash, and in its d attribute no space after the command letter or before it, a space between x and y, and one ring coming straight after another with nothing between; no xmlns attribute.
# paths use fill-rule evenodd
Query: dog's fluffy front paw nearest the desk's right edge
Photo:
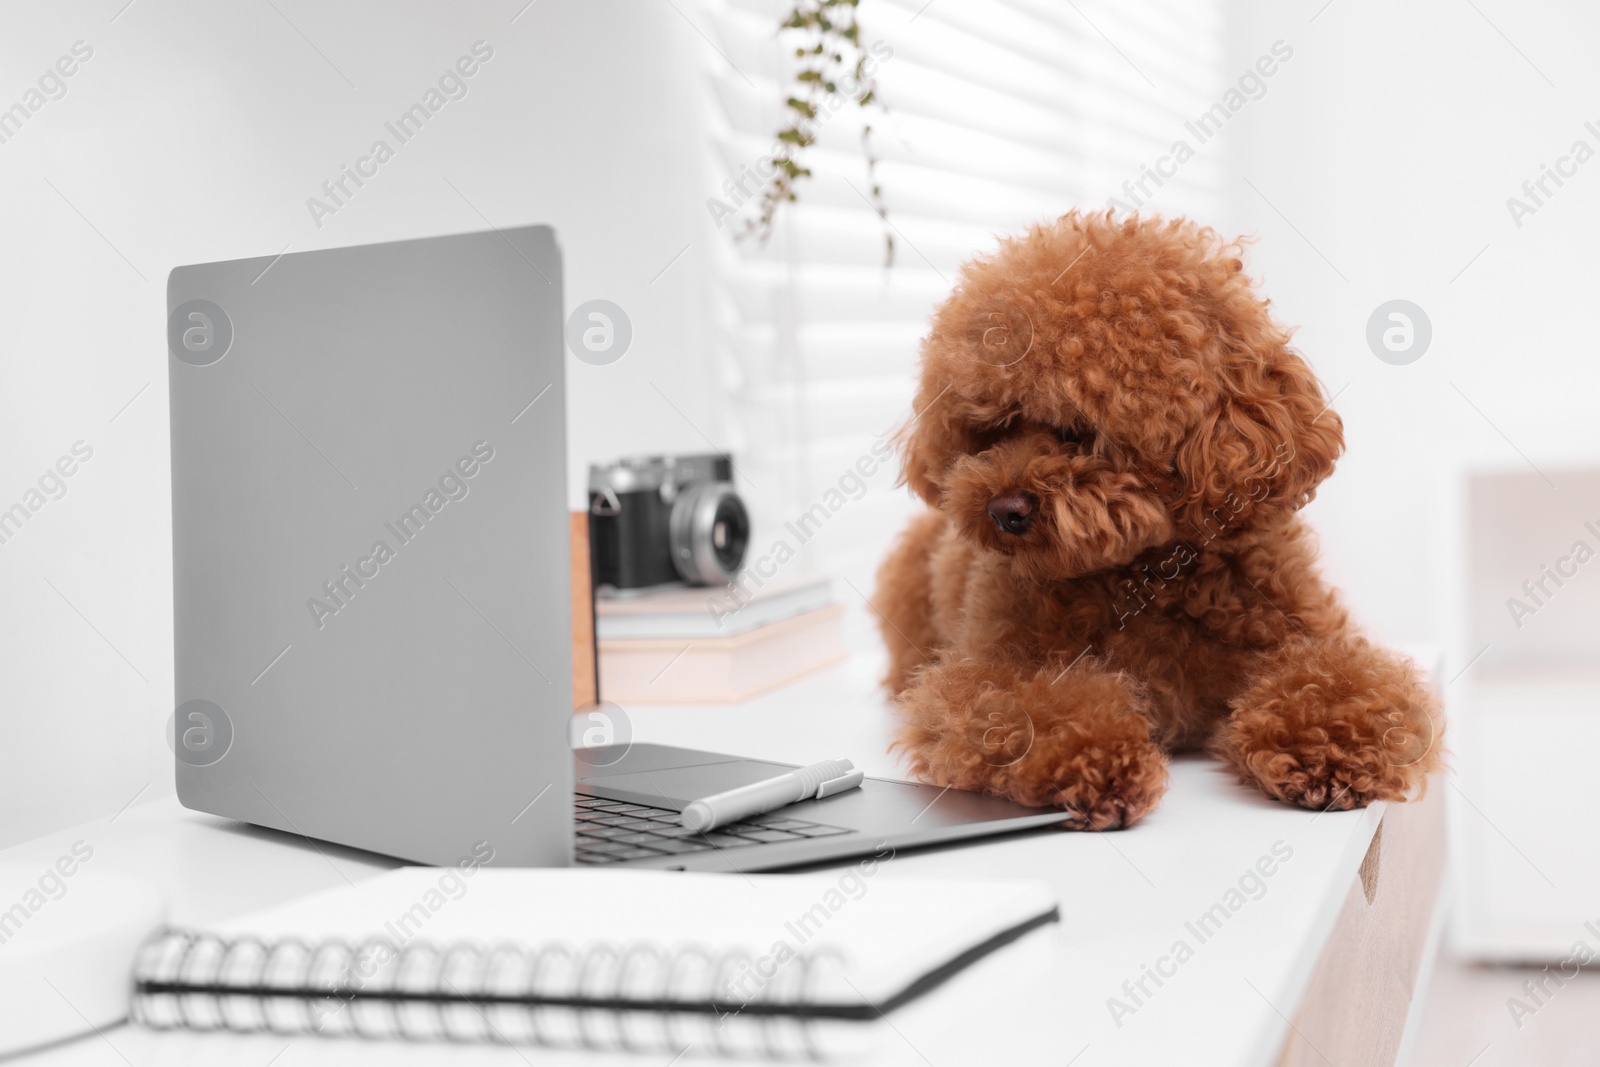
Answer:
<svg viewBox="0 0 1600 1067"><path fill-rule="evenodd" d="M1365 640L1294 638L1234 701L1214 742L1245 781L1302 808L1408 800L1440 766L1432 693Z"/></svg>

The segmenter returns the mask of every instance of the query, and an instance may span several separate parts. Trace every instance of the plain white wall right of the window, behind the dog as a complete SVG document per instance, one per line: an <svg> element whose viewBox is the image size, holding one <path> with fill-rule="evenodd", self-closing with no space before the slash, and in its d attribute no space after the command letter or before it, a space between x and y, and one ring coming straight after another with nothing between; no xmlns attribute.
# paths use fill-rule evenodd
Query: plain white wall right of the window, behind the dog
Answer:
<svg viewBox="0 0 1600 1067"><path fill-rule="evenodd" d="M1232 227L1259 235L1254 272L1342 390L1349 453L1309 514L1330 576L1389 640L1451 635L1464 467L1528 470L1520 450L1560 485L1560 467L1600 462L1600 158L1522 227L1506 206L1574 139L1600 150L1584 130L1600 120L1597 34L1600 11L1579 3L1238 8L1237 67L1278 38L1294 58L1224 134ZM1395 298L1434 326L1408 366L1365 339Z"/></svg>

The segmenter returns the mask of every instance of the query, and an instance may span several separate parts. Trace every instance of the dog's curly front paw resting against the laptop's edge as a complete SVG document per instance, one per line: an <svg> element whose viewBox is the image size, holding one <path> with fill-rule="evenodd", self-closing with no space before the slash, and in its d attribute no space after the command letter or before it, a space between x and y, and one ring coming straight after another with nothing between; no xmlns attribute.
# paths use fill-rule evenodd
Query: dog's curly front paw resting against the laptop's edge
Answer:
<svg viewBox="0 0 1600 1067"><path fill-rule="evenodd" d="M1123 675L1078 664L1018 677L974 661L928 669L902 694L899 744L918 777L1072 813L1062 827L1117 830L1166 790L1144 697Z"/></svg>

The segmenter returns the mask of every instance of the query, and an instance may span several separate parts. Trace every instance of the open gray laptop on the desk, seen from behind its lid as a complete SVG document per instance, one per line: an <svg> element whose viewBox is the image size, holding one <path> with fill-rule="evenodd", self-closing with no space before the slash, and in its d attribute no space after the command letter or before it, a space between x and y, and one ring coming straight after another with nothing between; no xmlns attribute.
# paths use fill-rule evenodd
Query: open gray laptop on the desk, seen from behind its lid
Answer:
<svg viewBox="0 0 1600 1067"><path fill-rule="evenodd" d="M867 779L709 835L784 765L568 747L549 227L168 278L178 797L426 864L762 870L1061 821Z"/></svg>

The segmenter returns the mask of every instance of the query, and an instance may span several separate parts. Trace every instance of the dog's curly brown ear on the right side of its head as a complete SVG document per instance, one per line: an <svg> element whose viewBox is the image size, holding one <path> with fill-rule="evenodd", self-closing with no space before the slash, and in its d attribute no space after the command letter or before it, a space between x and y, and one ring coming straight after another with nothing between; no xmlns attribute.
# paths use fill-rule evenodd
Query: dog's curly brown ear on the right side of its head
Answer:
<svg viewBox="0 0 1600 1067"><path fill-rule="evenodd" d="M1222 395L1178 446L1179 522L1202 536L1310 502L1344 451L1344 429L1286 339L1221 360ZM1181 526L1182 531L1182 526Z"/></svg>

